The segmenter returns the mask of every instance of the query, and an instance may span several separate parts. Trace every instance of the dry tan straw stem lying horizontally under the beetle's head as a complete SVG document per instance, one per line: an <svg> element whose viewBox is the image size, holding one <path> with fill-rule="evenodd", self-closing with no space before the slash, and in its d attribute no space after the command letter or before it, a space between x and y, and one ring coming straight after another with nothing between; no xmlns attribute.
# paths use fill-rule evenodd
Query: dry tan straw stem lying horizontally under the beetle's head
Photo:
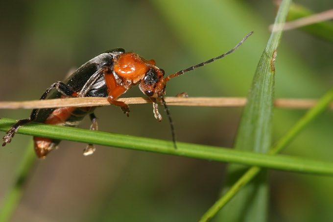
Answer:
<svg viewBox="0 0 333 222"><path fill-rule="evenodd" d="M143 104L151 103L149 98L121 98L127 104ZM210 107L239 107L246 103L245 98L239 97L166 97L168 105L180 106L210 106ZM317 102L316 99L275 99L275 107L290 109L309 109ZM106 98L85 97L85 98L67 98L67 99L45 99L31 101L8 101L0 102L0 109L41 109L41 108L57 108L57 107L84 107L84 106L104 106L110 105ZM330 105L333 109L333 103Z"/></svg>

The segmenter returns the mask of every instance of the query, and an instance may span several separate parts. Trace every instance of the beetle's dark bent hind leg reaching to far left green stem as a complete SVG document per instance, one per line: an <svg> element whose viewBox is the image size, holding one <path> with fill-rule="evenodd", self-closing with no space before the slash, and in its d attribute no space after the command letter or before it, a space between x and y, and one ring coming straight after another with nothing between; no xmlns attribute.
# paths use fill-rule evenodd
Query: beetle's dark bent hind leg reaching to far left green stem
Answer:
<svg viewBox="0 0 333 222"><path fill-rule="evenodd" d="M63 82L55 82L53 83L41 96L40 99L46 99L48 97L48 94L51 92L52 89L56 88L61 94L65 96L77 96L77 93L71 89L68 85L66 85ZM13 124L10 129L6 132L7 135L5 135L2 140L4 141L2 144L2 147L6 146L7 143L10 143L12 141L12 138L14 137L15 133L17 133L17 130L20 128L20 126L23 126L25 124L31 123L34 121L37 117L38 109L33 109L31 111L30 117L28 119L22 119L18 120L17 123Z"/></svg>

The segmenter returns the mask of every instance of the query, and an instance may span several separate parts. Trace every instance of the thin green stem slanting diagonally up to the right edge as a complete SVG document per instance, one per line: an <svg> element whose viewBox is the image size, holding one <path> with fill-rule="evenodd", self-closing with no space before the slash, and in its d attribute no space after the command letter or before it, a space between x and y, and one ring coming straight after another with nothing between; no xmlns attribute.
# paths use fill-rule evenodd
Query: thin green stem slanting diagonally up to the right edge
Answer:
<svg viewBox="0 0 333 222"><path fill-rule="evenodd" d="M298 133L304 129L309 123L314 121L325 110L328 109L333 101L333 88L326 93L317 104L311 108L302 119L295 123L285 135L269 150L269 154L277 154L283 148L285 148L292 139L294 139ZM219 198L214 205L202 216L201 222L208 221L212 218L229 200L231 200L239 190L241 190L246 184L249 183L262 169L259 167L251 167L235 182L230 189Z"/></svg>

